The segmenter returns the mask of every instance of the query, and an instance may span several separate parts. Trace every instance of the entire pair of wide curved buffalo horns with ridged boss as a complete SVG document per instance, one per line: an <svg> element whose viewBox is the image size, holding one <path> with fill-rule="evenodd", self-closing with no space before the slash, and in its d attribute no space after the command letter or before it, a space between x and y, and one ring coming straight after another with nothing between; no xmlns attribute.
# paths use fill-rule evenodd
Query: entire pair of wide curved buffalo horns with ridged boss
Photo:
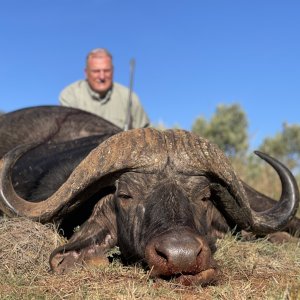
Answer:
<svg viewBox="0 0 300 300"><path fill-rule="evenodd" d="M104 187L110 183L114 176L108 175L112 173L157 173L166 167L185 175L208 176L213 188L222 186L227 195L221 191L221 206L243 229L259 233L279 230L293 216L299 202L293 175L275 159L257 152L277 171L283 189L274 208L260 213L252 211L243 185L223 152L206 139L183 130L134 129L110 137L82 160L52 196L38 203L20 198L11 183L13 165L24 152L26 149L20 147L0 162L0 205L9 215L41 222L59 218L84 202L96 184Z"/></svg>

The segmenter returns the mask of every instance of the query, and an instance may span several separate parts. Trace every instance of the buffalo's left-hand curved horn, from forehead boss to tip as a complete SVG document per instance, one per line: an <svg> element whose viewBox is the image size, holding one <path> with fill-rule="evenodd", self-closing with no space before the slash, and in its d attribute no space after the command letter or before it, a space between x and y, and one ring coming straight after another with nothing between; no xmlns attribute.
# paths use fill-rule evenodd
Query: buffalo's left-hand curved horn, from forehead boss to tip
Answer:
<svg viewBox="0 0 300 300"><path fill-rule="evenodd" d="M14 190L11 178L14 164L32 146L16 147L0 161L0 208L9 216L24 216L40 222L60 219L87 200L101 178L116 171L160 169L167 162L165 151L157 153L163 143L162 134L153 129L116 134L92 150L53 195L36 203L21 198ZM102 185L109 183L109 180L101 182Z"/></svg>

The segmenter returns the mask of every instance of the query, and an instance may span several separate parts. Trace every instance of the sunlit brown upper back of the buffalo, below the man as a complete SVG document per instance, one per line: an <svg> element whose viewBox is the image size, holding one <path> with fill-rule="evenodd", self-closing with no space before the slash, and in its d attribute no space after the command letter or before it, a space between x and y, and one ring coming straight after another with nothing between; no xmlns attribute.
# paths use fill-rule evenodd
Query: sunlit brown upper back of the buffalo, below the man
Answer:
<svg viewBox="0 0 300 300"><path fill-rule="evenodd" d="M121 129L91 113L61 106L39 106L0 115L0 157L24 143L57 143Z"/></svg>

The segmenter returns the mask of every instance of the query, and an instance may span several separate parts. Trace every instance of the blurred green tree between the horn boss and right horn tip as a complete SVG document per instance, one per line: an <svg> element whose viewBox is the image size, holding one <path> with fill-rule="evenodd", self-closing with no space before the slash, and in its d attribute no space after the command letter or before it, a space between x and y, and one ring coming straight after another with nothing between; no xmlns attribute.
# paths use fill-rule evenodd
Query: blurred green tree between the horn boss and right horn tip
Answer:
<svg viewBox="0 0 300 300"><path fill-rule="evenodd" d="M216 143L227 155L237 156L248 149L248 121L240 105L219 105L210 122L196 119L192 132Z"/></svg>

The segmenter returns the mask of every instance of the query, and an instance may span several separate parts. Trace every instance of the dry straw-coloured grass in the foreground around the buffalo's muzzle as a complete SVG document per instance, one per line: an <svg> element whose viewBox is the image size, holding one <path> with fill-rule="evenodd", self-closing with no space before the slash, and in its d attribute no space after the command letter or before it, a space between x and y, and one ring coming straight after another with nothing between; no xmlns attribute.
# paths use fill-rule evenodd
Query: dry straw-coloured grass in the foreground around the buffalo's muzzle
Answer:
<svg viewBox="0 0 300 300"><path fill-rule="evenodd" d="M1 299L300 299L300 244L218 241L215 286L182 287L149 279L138 266L49 273L48 257L63 240L49 226L26 219L0 222Z"/></svg>

